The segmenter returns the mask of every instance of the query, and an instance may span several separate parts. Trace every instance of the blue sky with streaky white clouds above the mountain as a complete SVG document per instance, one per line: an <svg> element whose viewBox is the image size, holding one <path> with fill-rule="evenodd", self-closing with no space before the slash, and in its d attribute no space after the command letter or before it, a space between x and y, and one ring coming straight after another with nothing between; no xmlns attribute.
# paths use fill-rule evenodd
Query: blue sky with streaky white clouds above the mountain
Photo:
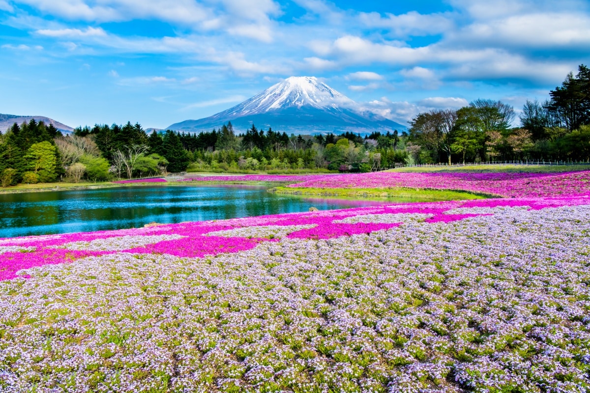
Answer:
<svg viewBox="0 0 590 393"><path fill-rule="evenodd" d="M163 128L293 75L405 123L590 65L590 2L0 0L0 113Z"/></svg>

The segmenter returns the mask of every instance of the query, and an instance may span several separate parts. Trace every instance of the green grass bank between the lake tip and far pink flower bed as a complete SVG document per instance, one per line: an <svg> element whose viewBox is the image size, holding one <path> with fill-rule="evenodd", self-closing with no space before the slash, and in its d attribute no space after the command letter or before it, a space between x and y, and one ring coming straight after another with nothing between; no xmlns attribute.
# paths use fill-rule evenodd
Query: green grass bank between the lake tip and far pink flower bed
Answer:
<svg viewBox="0 0 590 393"><path fill-rule="evenodd" d="M468 193L465 191L433 190L433 189L409 189L404 187L375 188L375 189L327 189L327 188L298 188L298 187L274 187L268 190L277 194L291 194L304 196L330 196L343 198L379 198L408 200L408 202L432 202L441 200L470 200L484 199L483 194Z"/></svg>

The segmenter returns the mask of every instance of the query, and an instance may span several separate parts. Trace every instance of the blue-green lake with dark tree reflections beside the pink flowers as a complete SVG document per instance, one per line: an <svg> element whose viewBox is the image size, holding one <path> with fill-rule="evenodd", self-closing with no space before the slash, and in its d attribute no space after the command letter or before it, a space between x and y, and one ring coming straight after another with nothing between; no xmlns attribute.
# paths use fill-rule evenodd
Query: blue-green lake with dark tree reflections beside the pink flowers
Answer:
<svg viewBox="0 0 590 393"><path fill-rule="evenodd" d="M147 223L222 220L373 206L378 201L303 198L253 186L125 186L0 194L0 237L92 232Z"/></svg>

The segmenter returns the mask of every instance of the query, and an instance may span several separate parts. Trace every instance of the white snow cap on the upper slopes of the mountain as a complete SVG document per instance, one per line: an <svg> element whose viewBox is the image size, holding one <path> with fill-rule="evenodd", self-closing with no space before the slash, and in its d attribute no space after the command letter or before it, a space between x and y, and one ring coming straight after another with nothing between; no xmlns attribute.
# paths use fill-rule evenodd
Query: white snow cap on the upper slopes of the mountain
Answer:
<svg viewBox="0 0 590 393"><path fill-rule="evenodd" d="M227 114L266 113L281 108L300 108L307 105L314 108L339 108L348 107L353 103L350 98L318 81L316 77L290 77L231 108Z"/></svg>

